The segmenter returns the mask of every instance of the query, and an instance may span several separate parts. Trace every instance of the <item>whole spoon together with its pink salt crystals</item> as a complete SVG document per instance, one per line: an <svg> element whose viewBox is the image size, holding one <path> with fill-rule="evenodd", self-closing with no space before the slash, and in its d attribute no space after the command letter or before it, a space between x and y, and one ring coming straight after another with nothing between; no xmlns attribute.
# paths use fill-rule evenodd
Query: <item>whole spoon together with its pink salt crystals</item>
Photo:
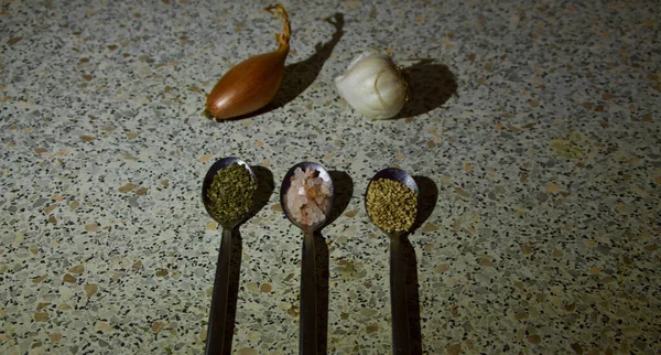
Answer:
<svg viewBox="0 0 661 355"><path fill-rule="evenodd" d="M280 187L280 205L284 215L304 234L301 259L299 354L317 354L314 233L329 219L334 201L333 180L321 164L301 162L284 175Z"/></svg>

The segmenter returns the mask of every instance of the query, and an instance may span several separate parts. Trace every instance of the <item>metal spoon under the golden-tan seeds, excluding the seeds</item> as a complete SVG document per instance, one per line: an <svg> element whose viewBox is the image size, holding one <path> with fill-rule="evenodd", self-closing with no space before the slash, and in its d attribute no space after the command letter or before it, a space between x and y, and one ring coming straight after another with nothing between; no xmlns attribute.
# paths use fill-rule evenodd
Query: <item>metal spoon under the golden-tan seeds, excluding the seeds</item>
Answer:
<svg viewBox="0 0 661 355"><path fill-rule="evenodd" d="M420 206L420 190L418 184L409 173L397 168L387 168L379 171L367 185L365 209L367 208L367 191L369 185L379 179L394 180L418 194L416 205ZM379 227L371 216L367 213L369 219ZM381 229L379 227L379 229ZM407 265L402 255L402 237L409 230L386 232L383 234L390 237L390 306L392 309L392 343L394 346L393 354L409 355L411 354L411 331L409 325L409 311L407 303Z"/></svg>

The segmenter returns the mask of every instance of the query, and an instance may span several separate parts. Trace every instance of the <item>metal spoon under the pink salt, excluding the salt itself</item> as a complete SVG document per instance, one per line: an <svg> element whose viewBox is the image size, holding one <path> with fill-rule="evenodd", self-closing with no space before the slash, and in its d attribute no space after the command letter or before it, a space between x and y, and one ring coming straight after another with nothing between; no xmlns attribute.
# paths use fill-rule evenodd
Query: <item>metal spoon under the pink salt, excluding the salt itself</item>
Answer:
<svg viewBox="0 0 661 355"><path fill-rule="evenodd" d="M307 168L314 169L318 172L318 178L322 178L330 185L328 208L326 209L324 220L312 226L296 222L292 217L291 211L286 204L286 192L291 186L291 179L294 176L296 168L301 168L303 171ZM317 163L302 162L292 166L292 169L286 172L286 175L284 175L282 186L280 187L280 205L289 220L301 228L304 234L303 257L301 260L301 329L299 336L299 354L314 355L317 353L316 256L314 252L314 233L330 217L334 201L335 187L333 186L333 180L330 180L330 175L324 166Z"/></svg>

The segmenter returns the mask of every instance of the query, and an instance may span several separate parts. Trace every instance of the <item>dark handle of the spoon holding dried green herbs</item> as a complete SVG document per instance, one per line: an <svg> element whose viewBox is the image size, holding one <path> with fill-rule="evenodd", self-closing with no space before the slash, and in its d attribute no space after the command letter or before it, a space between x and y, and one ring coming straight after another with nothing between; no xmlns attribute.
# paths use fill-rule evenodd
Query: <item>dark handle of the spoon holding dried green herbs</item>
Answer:
<svg viewBox="0 0 661 355"><path fill-rule="evenodd" d="M220 241L220 250L218 250L218 262L216 263L216 277L214 279L209 323L207 325L205 352L207 355L225 354L228 349L228 346L225 344L225 334L227 333L227 295L229 292L230 251L231 229L223 228L223 239Z"/></svg>

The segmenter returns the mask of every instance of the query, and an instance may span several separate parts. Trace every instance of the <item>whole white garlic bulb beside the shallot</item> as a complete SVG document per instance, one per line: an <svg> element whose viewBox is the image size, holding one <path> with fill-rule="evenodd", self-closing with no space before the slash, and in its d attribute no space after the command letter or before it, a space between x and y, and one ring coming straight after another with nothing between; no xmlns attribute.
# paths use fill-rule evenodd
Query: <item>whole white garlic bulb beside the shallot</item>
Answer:
<svg viewBox="0 0 661 355"><path fill-rule="evenodd" d="M407 101L407 82L390 56L366 52L335 78L339 96L371 119L394 117Z"/></svg>

